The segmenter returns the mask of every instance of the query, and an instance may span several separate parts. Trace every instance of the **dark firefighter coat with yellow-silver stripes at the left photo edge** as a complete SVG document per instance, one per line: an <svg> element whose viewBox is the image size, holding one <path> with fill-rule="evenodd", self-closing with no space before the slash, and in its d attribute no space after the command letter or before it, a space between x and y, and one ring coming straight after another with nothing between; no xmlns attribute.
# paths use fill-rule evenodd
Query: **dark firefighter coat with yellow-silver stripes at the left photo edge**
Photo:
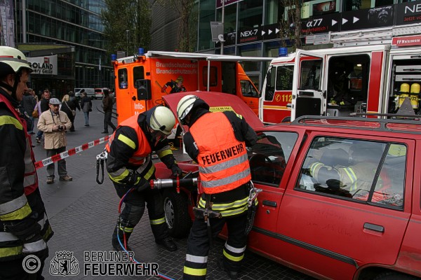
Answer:
<svg viewBox="0 0 421 280"><path fill-rule="evenodd" d="M48 241L53 235L38 189L31 138L17 106L0 88L0 261L22 258L28 239Z"/></svg>

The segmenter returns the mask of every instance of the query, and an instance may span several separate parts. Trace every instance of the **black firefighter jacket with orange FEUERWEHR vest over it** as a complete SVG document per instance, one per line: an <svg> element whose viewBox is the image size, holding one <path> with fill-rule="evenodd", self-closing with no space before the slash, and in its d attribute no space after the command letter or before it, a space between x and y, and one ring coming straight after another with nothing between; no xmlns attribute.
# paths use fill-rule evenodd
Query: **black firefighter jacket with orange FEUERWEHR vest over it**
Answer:
<svg viewBox="0 0 421 280"><path fill-rule="evenodd" d="M187 153L199 165L204 189L199 207L206 208L209 200L211 208L225 217L246 211L251 179L246 146L257 141L246 120L232 111L199 109L192 113L183 140Z"/></svg>

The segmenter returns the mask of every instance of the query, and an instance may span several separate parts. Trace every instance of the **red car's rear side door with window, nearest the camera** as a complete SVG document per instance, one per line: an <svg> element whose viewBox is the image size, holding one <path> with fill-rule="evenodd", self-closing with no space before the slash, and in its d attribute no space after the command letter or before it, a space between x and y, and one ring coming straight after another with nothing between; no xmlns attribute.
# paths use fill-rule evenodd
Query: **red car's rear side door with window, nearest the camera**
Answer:
<svg viewBox="0 0 421 280"><path fill-rule="evenodd" d="M404 197L411 191L415 143L366 138L309 134L279 209L279 258L331 279L352 279L356 269L370 263L394 264L410 217L410 200ZM377 154L372 157L375 167L366 168L372 181L365 190L342 183L345 176L339 181L316 176L316 166L321 165L362 179L355 172L355 151L368 144ZM333 150L333 156L325 155Z"/></svg>

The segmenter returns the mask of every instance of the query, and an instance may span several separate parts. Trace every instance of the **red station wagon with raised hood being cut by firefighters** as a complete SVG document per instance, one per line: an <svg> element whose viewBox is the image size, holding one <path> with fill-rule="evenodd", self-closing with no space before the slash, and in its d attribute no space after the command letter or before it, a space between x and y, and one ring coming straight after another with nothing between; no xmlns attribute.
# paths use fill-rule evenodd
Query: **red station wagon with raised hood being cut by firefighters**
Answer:
<svg viewBox="0 0 421 280"><path fill-rule="evenodd" d="M185 94L211 110L236 111L258 133L248 149L252 180L263 190L251 251L319 279L421 277L419 121L302 117L264 127L236 96ZM175 111L185 94L163 99ZM194 162L179 165L197 171ZM157 178L169 177L156 167ZM198 193L165 190L173 235L187 234Z"/></svg>

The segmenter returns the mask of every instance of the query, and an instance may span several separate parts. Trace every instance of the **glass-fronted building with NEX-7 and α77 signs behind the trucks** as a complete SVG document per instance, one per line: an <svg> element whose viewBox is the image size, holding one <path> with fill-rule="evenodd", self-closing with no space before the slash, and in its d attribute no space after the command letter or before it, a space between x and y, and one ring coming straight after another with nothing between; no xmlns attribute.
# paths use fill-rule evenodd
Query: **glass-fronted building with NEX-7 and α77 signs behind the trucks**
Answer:
<svg viewBox="0 0 421 280"><path fill-rule="evenodd" d="M291 47L290 35L285 35L295 13L294 1L286 0L196 0L197 18L196 52L221 53L219 42L212 41L210 22L224 22L224 55L277 57L280 47ZM290 3L290 4L288 4ZM328 32L392 28L421 22L421 1L412 0L303 0L300 25L301 48L314 50L331 48ZM290 6L288 6L290 5ZM161 15L164 15L163 13ZM152 26L154 26L155 17ZM163 22L152 29L161 32L177 30L176 20ZM284 27L281 27L283 23ZM282 29L282 30L281 30ZM309 38L312 36L312 40ZM289 38L288 38L289 37ZM175 42L173 42L175 43ZM156 48L159 46L159 48ZM152 40L152 50L174 50L175 45L157 45ZM288 51L291 51L290 48ZM267 62L244 62L243 68L261 89Z"/></svg>

